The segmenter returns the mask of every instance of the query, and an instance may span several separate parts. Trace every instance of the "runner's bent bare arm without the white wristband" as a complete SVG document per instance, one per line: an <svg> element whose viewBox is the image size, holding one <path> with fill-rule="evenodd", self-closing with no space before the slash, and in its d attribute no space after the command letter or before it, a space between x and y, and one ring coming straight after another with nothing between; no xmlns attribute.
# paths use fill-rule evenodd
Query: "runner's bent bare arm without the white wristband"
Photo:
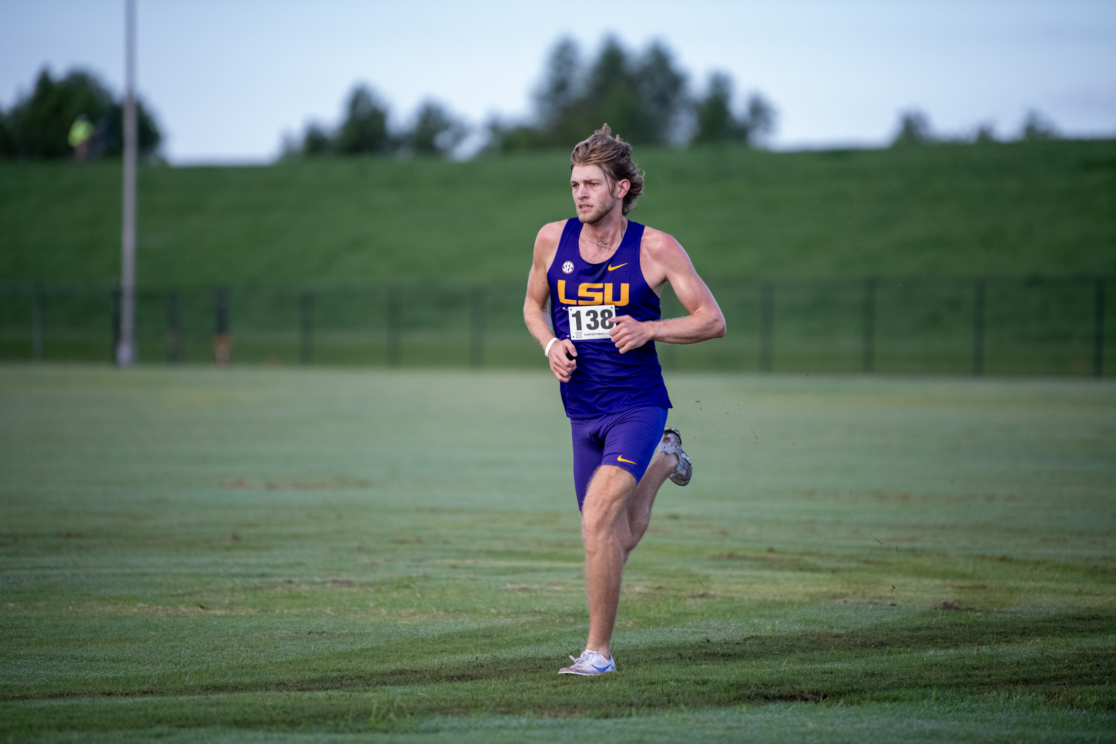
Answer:
<svg viewBox="0 0 1116 744"><path fill-rule="evenodd" d="M724 316L713 293L694 270L690 257L676 240L657 232L648 236L648 253L656 268L671 283L682 307L690 311L685 318L639 322L629 316L616 318L613 342L620 354L636 349L647 341L665 344L698 344L724 336Z"/></svg>

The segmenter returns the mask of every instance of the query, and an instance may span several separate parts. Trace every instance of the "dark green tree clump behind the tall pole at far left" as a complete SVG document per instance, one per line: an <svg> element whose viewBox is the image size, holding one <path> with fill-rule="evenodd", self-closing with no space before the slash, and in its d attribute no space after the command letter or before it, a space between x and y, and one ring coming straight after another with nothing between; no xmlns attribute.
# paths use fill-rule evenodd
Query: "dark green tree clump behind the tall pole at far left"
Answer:
<svg viewBox="0 0 1116 744"><path fill-rule="evenodd" d="M80 152L86 160L118 157L124 149L124 100L115 98L92 73L70 70L55 78L44 68L30 93L0 109L0 158L71 157L71 131L85 122ZM158 153L163 135L143 102L136 102L140 154Z"/></svg>

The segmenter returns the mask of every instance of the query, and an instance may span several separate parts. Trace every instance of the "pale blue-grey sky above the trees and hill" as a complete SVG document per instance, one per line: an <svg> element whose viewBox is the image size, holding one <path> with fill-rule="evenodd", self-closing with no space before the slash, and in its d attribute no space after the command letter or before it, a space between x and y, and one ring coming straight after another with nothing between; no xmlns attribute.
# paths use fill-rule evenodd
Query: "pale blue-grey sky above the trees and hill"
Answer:
<svg viewBox="0 0 1116 744"><path fill-rule="evenodd" d="M0 0L0 106L44 66L123 87L124 0ZM562 36L664 41L779 110L775 145L877 145L917 107L943 134L1013 135L1028 109L1116 134L1116 1L348 2L138 0L138 87L173 163L264 162L285 133L336 123L367 81L403 124L425 97L473 124L526 116Z"/></svg>

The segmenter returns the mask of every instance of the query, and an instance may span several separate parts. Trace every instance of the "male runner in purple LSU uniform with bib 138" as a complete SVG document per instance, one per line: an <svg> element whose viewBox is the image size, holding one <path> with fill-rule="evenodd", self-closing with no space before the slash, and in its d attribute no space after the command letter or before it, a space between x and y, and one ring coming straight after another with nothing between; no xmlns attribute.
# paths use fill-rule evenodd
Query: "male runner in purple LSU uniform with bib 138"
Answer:
<svg viewBox="0 0 1116 744"><path fill-rule="evenodd" d="M610 135L606 124L574 148L577 219L539 231L523 303L574 432L589 638L559 674L583 676L616 671L608 644L624 563L647 531L658 487L667 477L685 485L692 472L679 431L664 428L671 399L655 341L724 336L721 309L677 241L626 219L643 193L643 173L632 146ZM689 317L660 319L666 282Z"/></svg>

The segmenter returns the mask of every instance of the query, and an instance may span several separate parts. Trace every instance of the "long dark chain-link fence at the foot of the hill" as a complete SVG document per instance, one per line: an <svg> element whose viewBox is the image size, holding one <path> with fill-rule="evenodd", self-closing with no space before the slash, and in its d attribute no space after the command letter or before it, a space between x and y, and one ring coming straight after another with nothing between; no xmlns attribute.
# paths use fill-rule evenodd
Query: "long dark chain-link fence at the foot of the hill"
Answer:
<svg viewBox="0 0 1116 744"><path fill-rule="evenodd" d="M661 345L666 369L1104 375L1104 278L718 280L728 334ZM523 286L142 289L144 363L525 367L542 364ZM109 361L107 284L0 284L0 359ZM667 287L663 317L684 310Z"/></svg>

